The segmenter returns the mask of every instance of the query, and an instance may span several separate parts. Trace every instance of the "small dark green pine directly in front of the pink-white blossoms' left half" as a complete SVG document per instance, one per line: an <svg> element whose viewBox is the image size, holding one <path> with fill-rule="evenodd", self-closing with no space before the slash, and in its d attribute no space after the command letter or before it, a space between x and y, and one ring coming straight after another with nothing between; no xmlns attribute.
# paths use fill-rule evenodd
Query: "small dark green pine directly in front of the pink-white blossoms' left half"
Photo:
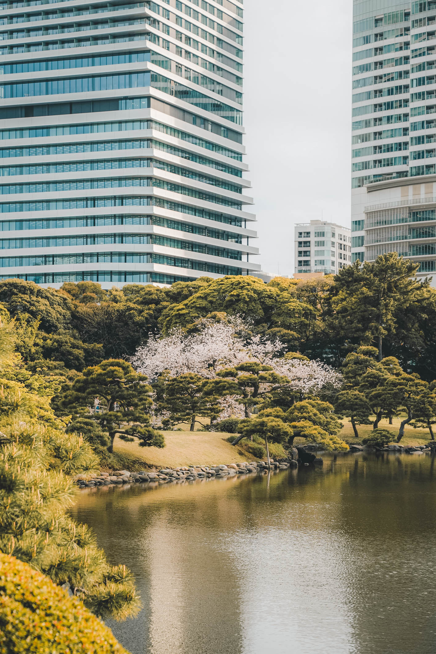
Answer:
<svg viewBox="0 0 436 654"><path fill-rule="evenodd" d="M213 382L192 372L170 377L165 384L163 402L159 404L159 410L169 413L169 422L172 424L190 422L190 431L193 432L196 422L202 424L197 416L211 420L218 417L220 404L218 394L214 390Z"/></svg>

